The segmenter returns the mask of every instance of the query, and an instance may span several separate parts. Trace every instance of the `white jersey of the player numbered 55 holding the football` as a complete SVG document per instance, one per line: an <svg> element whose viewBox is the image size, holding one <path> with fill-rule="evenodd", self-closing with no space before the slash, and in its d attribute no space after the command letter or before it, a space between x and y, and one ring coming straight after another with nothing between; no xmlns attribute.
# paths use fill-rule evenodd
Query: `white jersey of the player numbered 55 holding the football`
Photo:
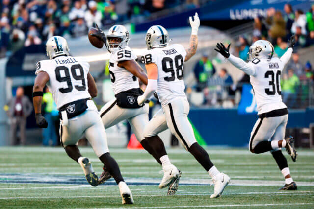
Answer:
<svg viewBox="0 0 314 209"><path fill-rule="evenodd" d="M109 60L109 73L114 94L139 88L137 77L128 70L118 66L118 63L121 61L136 59L137 56L129 46L111 54Z"/></svg>

